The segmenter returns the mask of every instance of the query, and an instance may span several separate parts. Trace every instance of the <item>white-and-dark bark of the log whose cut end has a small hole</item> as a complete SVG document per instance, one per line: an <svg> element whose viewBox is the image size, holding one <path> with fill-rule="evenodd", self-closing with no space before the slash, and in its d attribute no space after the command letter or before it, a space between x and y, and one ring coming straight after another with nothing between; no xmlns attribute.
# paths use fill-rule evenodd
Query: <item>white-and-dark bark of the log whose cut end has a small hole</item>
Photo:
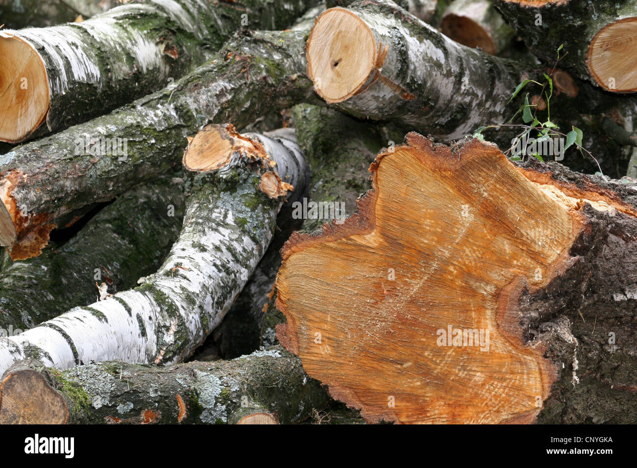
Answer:
<svg viewBox="0 0 637 468"><path fill-rule="evenodd" d="M355 117L396 120L445 140L501 120L519 83L512 62L462 46L385 0L334 8L318 18L308 39L308 76L322 97L326 80L311 68L314 34L321 20L329 21L338 10L353 13L369 27L377 52L367 80L344 99L328 103Z"/></svg>

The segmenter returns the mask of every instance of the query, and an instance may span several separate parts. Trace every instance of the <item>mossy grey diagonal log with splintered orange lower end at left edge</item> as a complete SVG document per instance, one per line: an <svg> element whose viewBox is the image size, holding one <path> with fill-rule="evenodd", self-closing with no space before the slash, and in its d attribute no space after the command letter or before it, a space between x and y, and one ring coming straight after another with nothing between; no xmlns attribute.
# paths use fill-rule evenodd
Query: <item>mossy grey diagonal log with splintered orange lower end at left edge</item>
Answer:
<svg viewBox="0 0 637 468"><path fill-rule="evenodd" d="M6 153L0 245L14 259L39 255L56 218L171 170L183 138L207 122L243 127L255 115L311 99L305 67L303 32L240 34L175 87ZM103 154L101 145L113 138L126 151L120 145Z"/></svg>

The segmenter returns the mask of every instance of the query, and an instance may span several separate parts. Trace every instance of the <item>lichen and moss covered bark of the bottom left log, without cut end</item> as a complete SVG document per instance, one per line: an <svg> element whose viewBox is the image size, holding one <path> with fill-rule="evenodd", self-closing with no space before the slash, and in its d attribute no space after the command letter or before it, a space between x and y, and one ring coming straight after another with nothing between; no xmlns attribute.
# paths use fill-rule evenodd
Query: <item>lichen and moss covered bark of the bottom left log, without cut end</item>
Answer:
<svg viewBox="0 0 637 468"><path fill-rule="evenodd" d="M280 347L229 361L171 366L102 362L64 371L48 369L53 387L69 408L69 423L227 423L238 411L276 413L280 423L299 422L329 401L299 359ZM236 419L236 418L234 418Z"/></svg>

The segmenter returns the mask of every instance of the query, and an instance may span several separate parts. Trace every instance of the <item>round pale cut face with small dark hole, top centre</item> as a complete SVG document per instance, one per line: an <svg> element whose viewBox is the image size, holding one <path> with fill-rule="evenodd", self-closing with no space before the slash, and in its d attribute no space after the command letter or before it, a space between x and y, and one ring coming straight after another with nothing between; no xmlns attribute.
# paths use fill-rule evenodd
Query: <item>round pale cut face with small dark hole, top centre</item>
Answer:
<svg viewBox="0 0 637 468"><path fill-rule="evenodd" d="M308 38L308 76L329 103L345 101L373 73L376 40L369 26L352 11L331 8L320 15Z"/></svg>

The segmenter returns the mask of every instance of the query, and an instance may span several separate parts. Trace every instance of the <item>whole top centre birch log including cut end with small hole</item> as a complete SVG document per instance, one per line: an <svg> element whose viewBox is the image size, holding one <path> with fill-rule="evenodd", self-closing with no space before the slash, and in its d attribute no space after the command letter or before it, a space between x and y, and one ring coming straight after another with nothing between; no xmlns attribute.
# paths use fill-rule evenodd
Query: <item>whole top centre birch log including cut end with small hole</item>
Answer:
<svg viewBox="0 0 637 468"><path fill-rule="evenodd" d="M307 58L327 103L443 139L500 120L522 81L514 62L459 45L385 0L320 15Z"/></svg>

